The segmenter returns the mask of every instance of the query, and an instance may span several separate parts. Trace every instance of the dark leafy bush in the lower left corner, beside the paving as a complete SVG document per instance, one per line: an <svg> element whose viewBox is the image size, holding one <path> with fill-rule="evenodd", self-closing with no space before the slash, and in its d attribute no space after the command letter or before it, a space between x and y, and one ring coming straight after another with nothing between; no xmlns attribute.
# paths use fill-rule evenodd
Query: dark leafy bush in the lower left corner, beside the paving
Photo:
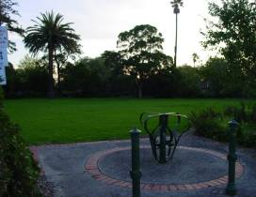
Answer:
<svg viewBox="0 0 256 197"><path fill-rule="evenodd" d="M0 103L0 196L40 197L40 169L19 131Z"/></svg>

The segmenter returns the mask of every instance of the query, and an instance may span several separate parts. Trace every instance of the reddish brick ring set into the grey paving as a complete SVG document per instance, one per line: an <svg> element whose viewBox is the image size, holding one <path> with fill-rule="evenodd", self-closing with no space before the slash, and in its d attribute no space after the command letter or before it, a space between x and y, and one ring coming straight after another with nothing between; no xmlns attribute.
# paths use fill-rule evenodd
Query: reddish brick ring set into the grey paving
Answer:
<svg viewBox="0 0 256 197"><path fill-rule="evenodd" d="M150 148L148 145L141 146L141 148ZM179 146L179 149L182 149L184 151L196 151L197 154L207 154L210 157L214 157L217 159L221 160L226 160L227 156L213 151L213 150L208 150L208 149L203 149L203 148L195 148L195 147L187 147L187 146ZM130 147L118 147L118 148L113 148L105 151L100 151L92 155L87 163L86 163L86 172L90 174L93 178L99 181L103 181L106 184L110 184L113 186L118 186L122 188L132 188L132 183L131 181L128 181L125 178L121 178L119 176L114 176L113 174L108 174L105 171L102 170L102 168L99 166L101 163L104 164L104 159L106 157L109 157L119 151L127 151L130 150ZM178 154L178 153L176 153ZM161 165L161 164L158 164ZM191 166L193 167L193 166ZM228 168L228 166L227 166ZM113 166L113 169L115 170L115 166ZM239 178L241 174L243 174L244 167L240 162L236 162L236 178ZM115 173L115 171L114 171ZM185 179L184 182L182 183L159 183L159 181L152 180L152 183L147 181L147 182L142 182L141 183L141 189L145 190L158 190L158 191L167 191L167 190L190 190L190 189L205 189L205 188L210 188L210 187L215 187L219 185L225 185L227 184L228 181L228 176L226 174L216 174L217 177L214 179L208 179L207 181L187 181ZM219 176L218 176L219 175Z"/></svg>

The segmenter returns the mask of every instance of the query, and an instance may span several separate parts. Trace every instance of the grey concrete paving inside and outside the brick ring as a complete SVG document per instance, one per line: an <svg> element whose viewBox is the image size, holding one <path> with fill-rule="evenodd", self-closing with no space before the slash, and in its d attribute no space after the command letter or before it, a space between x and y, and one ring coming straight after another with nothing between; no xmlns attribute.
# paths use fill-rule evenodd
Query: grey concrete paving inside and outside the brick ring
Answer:
<svg viewBox="0 0 256 197"><path fill-rule="evenodd" d="M194 136L190 132L181 139L180 147L172 161L167 164L158 164L153 158L149 148L148 139L141 139L144 148L141 148L141 183L145 186L156 184L160 189L141 189L142 197L224 197L226 183L216 184L212 187L199 187L202 182L225 177L228 173L227 160L223 159L228 152L228 145L216 143L212 140ZM42 173L47 181L53 183L56 197L128 197L132 196L132 189L119 185L130 183L129 171L131 169L130 141L107 141L82 144L48 144L33 146L35 157L40 162ZM186 148L191 147L191 149ZM194 149L193 149L194 148ZM220 157L209 154L211 152L197 151L196 148L219 153ZM109 153L98 157L98 171L115 184L95 178L86 165L88 159L97 153L107 150ZM255 149L238 148L237 155L243 173L236 180L237 196L256 197L256 153ZM221 158L222 157L222 158ZM95 158L95 157L94 157ZM96 157L97 158L97 157ZM241 169L240 169L241 170ZM93 172L93 171L92 171ZM225 178L223 179L225 180ZM223 181L222 180L222 181ZM113 181L112 181L113 182ZM186 189L169 189L175 185L187 185ZM191 186L194 189L189 189ZM166 187L166 188L165 188ZM179 187L178 187L179 188Z"/></svg>

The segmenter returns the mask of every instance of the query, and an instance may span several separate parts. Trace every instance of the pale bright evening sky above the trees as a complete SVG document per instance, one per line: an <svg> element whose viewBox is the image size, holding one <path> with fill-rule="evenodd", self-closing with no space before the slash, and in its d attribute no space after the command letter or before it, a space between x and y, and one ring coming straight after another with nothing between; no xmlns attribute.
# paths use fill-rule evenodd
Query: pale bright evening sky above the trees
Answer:
<svg viewBox="0 0 256 197"><path fill-rule="evenodd" d="M96 57L106 50L117 50L120 32L130 30L138 24L155 26L165 38L164 53L174 55L175 14L170 0L22 0L19 1L21 17L17 21L24 27L33 25L40 13L59 12L64 23L73 23L72 28L81 37L82 56ZM198 53L204 62L210 55L203 50L200 30L205 28L203 18L208 17L208 0L184 0L178 16L177 65L193 65L192 53ZM28 53L23 39L9 34L16 42L18 51L8 55L15 66Z"/></svg>

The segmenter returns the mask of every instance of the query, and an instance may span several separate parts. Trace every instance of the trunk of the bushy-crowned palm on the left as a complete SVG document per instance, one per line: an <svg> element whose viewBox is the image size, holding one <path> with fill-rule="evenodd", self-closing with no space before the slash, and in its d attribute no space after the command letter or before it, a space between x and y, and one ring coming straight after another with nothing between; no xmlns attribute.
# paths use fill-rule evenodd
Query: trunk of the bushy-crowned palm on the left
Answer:
<svg viewBox="0 0 256 197"><path fill-rule="evenodd" d="M48 46L48 62L48 98L54 98L54 49L51 44Z"/></svg>

